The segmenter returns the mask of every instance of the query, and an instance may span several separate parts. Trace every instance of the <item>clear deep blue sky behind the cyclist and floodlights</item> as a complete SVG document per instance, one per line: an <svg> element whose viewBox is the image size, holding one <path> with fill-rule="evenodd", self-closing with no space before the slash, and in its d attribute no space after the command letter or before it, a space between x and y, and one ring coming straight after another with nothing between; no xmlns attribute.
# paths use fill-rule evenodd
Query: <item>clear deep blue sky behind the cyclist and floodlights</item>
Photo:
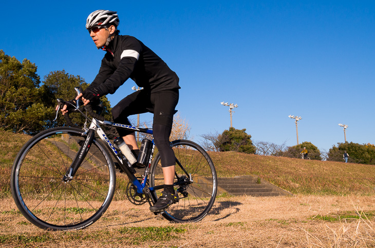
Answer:
<svg viewBox="0 0 375 248"><path fill-rule="evenodd" d="M0 49L29 59L43 77L65 70L90 83L103 51L85 30L97 9L118 11L121 34L137 37L180 78L191 137L230 127L253 140L310 141L328 151L346 138L375 143L373 1L5 1ZM132 93L129 79L111 105ZM151 116L141 115L141 120Z"/></svg>

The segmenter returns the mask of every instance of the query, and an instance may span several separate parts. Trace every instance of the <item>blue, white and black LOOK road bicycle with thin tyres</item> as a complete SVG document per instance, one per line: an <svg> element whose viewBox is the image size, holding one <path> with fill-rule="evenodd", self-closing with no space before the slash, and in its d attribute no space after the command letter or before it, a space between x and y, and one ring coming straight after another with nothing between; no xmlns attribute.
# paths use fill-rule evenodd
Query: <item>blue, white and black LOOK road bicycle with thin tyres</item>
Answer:
<svg viewBox="0 0 375 248"><path fill-rule="evenodd" d="M75 89L79 94L80 89ZM58 102L59 107L68 104L62 99ZM78 230L97 221L114 197L118 172L125 173L129 180L118 181L118 189L123 190L127 183L126 197L136 205L154 205L163 189L160 155L154 140L143 174L136 176L128 159L100 125L148 135L153 134L152 129L107 121L89 105L78 106L77 101L76 109L70 112L80 112L86 118L83 128L76 127L65 114L70 127L51 128L32 137L18 152L12 167L15 204L26 219L42 229ZM56 116L58 113L59 110ZM160 214L173 222L199 221L215 201L214 164L209 154L193 141L180 139L170 143L176 157L174 188L179 201Z"/></svg>

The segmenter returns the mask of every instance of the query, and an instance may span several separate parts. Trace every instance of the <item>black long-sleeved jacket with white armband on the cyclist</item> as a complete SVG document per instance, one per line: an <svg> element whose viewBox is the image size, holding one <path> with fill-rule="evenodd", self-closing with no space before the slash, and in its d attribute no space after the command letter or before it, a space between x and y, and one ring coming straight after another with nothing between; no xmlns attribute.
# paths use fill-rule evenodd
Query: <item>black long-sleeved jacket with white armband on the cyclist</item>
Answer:
<svg viewBox="0 0 375 248"><path fill-rule="evenodd" d="M105 49L99 73L89 86L100 95L115 93L128 78L151 93L180 89L177 74L135 37L116 35Z"/></svg>

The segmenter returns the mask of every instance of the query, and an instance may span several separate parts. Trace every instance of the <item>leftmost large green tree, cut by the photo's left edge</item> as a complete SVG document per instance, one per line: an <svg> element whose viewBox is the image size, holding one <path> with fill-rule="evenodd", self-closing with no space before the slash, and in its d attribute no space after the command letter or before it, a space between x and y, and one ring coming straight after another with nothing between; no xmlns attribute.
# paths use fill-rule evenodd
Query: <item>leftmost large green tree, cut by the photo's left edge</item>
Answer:
<svg viewBox="0 0 375 248"><path fill-rule="evenodd" d="M43 104L40 77L30 60L22 63L0 50L0 125L3 130L33 134L49 110Z"/></svg>

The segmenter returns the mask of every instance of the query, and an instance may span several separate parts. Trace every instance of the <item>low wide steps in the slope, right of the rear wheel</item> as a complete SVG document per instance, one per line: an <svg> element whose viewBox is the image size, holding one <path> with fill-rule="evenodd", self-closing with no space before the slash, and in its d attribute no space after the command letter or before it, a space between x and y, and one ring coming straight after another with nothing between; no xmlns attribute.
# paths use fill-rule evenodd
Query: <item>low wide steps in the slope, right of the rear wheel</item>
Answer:
<svg viewBox="0 0 375 248"><path fill-rule="evenodd" d="M257 176L218 177L217 185L231 195L282 196L292 195Z"/></svg>

